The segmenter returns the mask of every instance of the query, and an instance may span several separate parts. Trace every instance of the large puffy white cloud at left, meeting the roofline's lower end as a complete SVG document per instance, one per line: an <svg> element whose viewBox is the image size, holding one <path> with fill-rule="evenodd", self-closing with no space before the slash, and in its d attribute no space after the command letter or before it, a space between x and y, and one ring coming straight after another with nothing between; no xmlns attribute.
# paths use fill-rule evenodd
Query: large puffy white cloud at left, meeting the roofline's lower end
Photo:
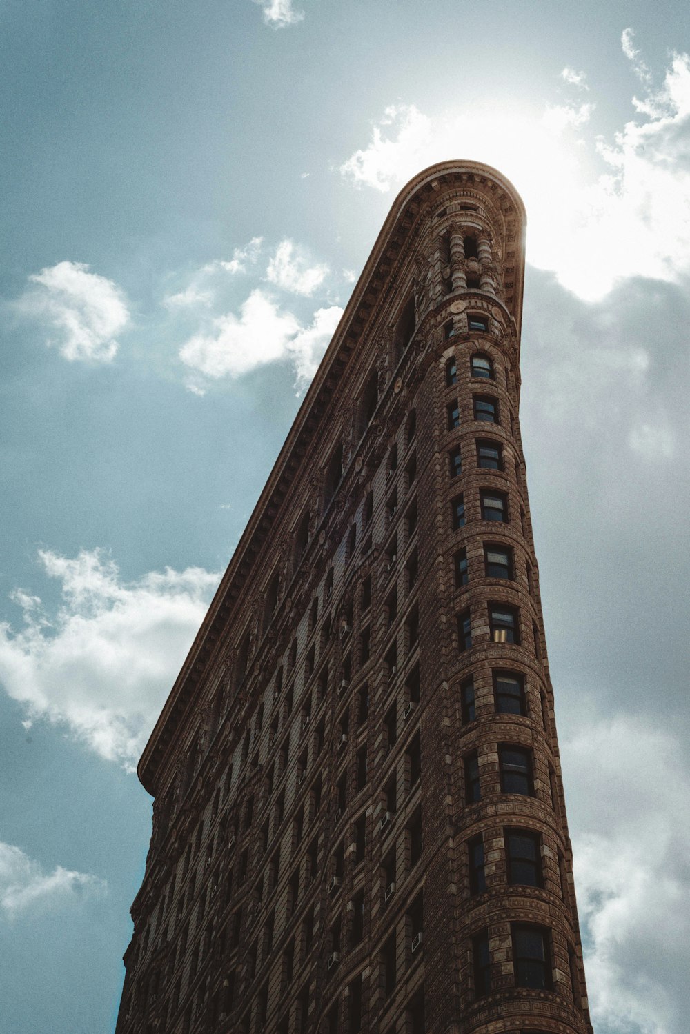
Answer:
<svg viewBox="0 0 690 1034"><path fill-rule="evenodd" d="M20 631L0 626L0 681L29 719L64 723L102 758L132 767L219 576L168 568L127 583L100 550L38 556L61 582L62 604L49 616L30 597Z"/></svg>

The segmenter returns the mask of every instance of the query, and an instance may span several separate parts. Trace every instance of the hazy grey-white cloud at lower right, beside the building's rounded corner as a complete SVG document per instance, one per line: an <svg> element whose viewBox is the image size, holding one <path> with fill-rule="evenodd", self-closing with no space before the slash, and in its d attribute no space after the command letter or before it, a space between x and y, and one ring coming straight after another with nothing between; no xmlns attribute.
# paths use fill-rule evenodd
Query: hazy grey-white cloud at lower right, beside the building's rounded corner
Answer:
<svg viewBox="0 0 690 1034"><path fill-rule="evenodd" d="M573 837L595 1030L682 1034L690 943L690 832L678 821L690 794L683 747L619 716L582 728L563 751L569 800L581 798L570 811L587 823Z"/></svg>

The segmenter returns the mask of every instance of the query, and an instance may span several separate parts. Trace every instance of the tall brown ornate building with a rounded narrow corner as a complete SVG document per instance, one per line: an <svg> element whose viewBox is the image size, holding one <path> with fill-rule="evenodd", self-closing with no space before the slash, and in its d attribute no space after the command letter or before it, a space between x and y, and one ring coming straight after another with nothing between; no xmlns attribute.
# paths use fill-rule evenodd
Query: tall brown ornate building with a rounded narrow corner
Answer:
<svg viewBox="0 0 690 1034"><path fill-rule="evenodd" d="M118 1034L591 1034L523 237L476 162L396 199L140 763Z"/></svg>

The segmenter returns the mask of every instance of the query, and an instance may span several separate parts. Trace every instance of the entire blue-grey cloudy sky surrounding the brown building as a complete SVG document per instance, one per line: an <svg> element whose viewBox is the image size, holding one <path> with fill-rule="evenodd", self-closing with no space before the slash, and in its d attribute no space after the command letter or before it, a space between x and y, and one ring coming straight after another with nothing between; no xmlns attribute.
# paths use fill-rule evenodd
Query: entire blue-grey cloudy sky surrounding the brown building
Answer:
<svg viewBox="0 0 690 1034"><path fill-rule="evenodd" d="M111 1034L134 768L398 189L528 211L520 421L596 1034L684 1034L690 40L579 0L0 4L0 1034Z"/></svg>

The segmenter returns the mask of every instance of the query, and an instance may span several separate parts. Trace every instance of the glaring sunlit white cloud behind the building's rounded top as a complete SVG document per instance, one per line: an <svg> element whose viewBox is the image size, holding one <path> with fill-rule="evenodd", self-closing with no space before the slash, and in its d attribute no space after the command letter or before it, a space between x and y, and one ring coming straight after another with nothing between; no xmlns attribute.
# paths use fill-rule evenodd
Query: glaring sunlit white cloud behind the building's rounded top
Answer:
<svg viewBox="0 0 690 1034"><path fill-rule="evenodd" d="M624 50L649 85L631 39L624 33ZM567 82L581 74L565 71ZM582 136L594 101L547 105L538 116L451 111L434 119L414 104L397 105L340 172L358 186L387 191L455 154L458 140L473 140L476 154L522 195L533 265L553 270L588 300L623 277L678 282L690 274L688 55L674 55L662 88L634 98L633 108L637 120L606 142ZM601 161L603 173L596 171Z"/></svg>

